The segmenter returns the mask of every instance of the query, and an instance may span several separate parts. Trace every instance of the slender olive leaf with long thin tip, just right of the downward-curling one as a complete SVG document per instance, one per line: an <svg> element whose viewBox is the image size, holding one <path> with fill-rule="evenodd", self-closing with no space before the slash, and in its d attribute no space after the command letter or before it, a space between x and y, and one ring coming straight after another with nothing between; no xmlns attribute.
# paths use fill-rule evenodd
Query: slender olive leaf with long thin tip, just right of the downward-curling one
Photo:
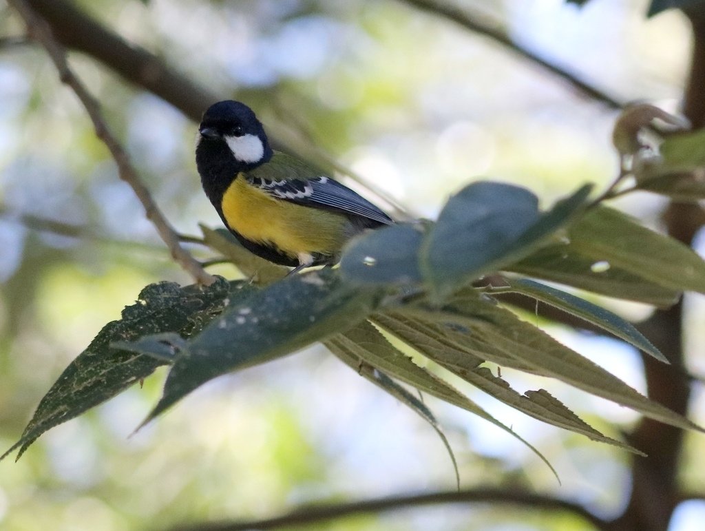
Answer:
<svg viewBox="0 0 705 531"><path fill-rule="evenodd" d="M426 369L416 365L412 362L411 358L408 358L394 348L371 324L360 324L354 329L350 329L345 334L336 336L336 338L333 339L333 343L338 346L338 348L346 348L349 353L353 353L355 357L362 360L362 362L372 365L372 367L379 368L383 372L388 372L388 374L397 377L402 382L415 386L419 391L426 391L432 396L457 405L459 408L474 413L495 426L500 427L505 432L508 432L513 435L513 437L522 441L522 443L536 453L536 455L548 465L551 472L556 475L556 479L558 479L558 474L551 466L551 463L548 463L548 460L541 452L534 448L534 446L525 441L525 439L522 439L522 437L519 437L513 429L506 427L496 420L496 418L487 413L479 405L471 401L470 398L456 391L450 384L443 382L443 380L438 377L434 377L434 375ZM385 370L380 366L387 368ZM560 482L560 480L558 481Z"/></svg>

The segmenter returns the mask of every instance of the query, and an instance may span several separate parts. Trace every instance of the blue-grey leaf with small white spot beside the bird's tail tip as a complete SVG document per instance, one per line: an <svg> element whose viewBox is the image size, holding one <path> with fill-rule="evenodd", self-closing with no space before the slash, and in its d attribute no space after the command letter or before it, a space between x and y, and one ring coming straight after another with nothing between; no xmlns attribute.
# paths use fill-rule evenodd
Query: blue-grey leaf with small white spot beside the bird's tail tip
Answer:
<svg viewBox="0 0 705 531"><path fill-rule="evenodd" d="M422 280L422 224L396 224L367 233L343 252L341 273L362 284L408 284Z"/></svg>

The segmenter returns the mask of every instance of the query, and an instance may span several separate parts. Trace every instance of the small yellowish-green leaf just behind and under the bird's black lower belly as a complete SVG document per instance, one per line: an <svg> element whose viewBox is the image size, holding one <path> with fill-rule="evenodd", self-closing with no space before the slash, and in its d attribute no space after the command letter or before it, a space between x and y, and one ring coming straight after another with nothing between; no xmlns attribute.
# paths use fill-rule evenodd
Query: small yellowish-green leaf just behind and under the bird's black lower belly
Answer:
<svg viewBox="0 0 705 531"><path fill-rule="evenodd" d="M257 283L270 284L283 279L289 272L286 267L253 255L225 228L212 230L204 225L199 226L206 245L233 262L247 278L255 279Z"/></svg>

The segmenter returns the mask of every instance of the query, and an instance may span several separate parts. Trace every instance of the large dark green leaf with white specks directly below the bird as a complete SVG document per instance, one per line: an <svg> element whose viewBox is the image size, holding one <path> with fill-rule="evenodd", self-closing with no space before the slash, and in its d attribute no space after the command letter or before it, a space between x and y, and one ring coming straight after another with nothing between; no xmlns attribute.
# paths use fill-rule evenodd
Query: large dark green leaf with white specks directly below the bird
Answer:
<svg viewBox="0 0 705 531"><path fill-rule="evenodd" d="M374 310L378 298L377 291L350 286L331 269L288 276L252 293L180 348L164 394L145 422L210 379L354 326Z"/></svg>

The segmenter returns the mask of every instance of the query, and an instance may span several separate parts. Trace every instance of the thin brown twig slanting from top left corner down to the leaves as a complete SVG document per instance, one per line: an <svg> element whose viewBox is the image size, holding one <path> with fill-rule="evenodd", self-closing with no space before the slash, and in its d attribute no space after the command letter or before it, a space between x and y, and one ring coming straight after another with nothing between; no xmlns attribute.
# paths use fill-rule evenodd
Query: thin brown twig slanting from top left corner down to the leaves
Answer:
<svg viewBox="0 0 705 531"><path fill-rule="evenodd" d="M25 0L8 0L8 4L13 6L25 20L27 32L30 36L37 39L44 49L47 50L47 54L49 54L51 61L54 62L57 71L59 71L61 81L71 87L76 96L78 96L78 99L80 99L80 102L83 104L93 122L97 137L104 142L115 160L120 178L130 185L135 195L137 195L137 199L139 199L142 206L145 207L147 219L152 221L152 224L157 228L159 236L161 236L161 239L164 240L164 243L166 243L166 246L171 251L173 259L176 260L185 271L188 271L198 283L204 285L213 283L215 281L214 276L209 275L201 267L201 264L179 245L176 231L174 231L171 224L166 220L164 214L161 213L157 203L154 202L152 195L149 193L149 190L147 190L147 187L142 183L139 176L137 176L137 172L130 163L125 149L123 149L120 142L116 140L109 130L101 114L98 102L74 75L71 68L69 68L68 61L66 60L66 51L61 47L61 44L54 39L49 25L32 11L32 8Z"/></svg>

